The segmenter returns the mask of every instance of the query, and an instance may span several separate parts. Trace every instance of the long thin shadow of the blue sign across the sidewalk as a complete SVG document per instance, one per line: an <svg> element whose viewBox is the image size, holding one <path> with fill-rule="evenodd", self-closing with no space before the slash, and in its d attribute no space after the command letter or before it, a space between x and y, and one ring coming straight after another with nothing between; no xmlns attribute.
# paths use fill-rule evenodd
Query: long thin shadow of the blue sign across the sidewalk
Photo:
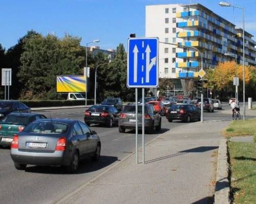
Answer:
<svg viewBox="0 0 256 204"><path fill-rule="evenodd" d="M205 152L205 151L210 151L212 149L217 149L219 148L218 146L201 146L201 147L196 147L196 148L192 148L192 149L186 149L186 150L183 150L183 151L179 151L175 154L172 154L172 155L168 155L168 156L164 156L164 157L159 157L159 158L156 158L156 159L152 159L152 160L148 160L146 161L145 163L151 163L151 162L156 162L156 161L160 161L160 160L164 160L164 159L169 159L169 158L172 158L172 157L177 157L177 156L180 156L180 155L185 155L189 152Z"/></svg>

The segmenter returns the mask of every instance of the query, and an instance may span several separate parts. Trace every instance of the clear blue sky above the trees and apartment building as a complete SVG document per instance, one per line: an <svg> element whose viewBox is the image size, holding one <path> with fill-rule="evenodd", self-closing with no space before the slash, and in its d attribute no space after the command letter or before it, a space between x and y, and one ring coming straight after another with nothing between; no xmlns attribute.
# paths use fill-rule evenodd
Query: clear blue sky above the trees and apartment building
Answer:
<svg viewBox="0 0 256 204"><path fill-rule="evenodd" d="M191 0L242 28L242 10L220 7L219 0ZM245 8L245 30L256 36L255 0L229 0ZM102 49L127 46L130 33L145 36L145 6L190 4L190 0L0 0L0 44L8 49L34 30L42 35L81 37L81 45L99 39ZM254 40L256 37L254 38ZM93 44L90 44L93 45Z"/></svg>

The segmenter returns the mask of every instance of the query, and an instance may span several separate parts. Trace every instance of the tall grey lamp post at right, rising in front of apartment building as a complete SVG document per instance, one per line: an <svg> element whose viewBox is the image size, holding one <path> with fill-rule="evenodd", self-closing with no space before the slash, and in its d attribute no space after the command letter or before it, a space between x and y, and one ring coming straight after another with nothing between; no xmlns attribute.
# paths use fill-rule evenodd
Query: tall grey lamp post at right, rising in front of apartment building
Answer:
<svg viewBox="0 0 256 204"><path fill-rule="evenodd" d="M238 8L238 9L242 9L242 11L243 11L243 100L244 100L243 120L245 120L244 8L243 7L239 7L239 6L231 5L228 2L220 2L219 5L222 6L222 7Z"/></svg>

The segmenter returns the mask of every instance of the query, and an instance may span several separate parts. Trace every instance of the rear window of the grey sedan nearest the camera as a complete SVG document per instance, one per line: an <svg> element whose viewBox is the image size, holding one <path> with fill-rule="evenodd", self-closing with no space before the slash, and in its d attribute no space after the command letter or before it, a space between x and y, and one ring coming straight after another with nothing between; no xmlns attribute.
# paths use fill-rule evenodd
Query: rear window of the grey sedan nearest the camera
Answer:
<svg viewBox="0 0 256 204"><path fill-rule="evenodd" d="M67 130L68 124L53 121L40 121L29 124L23 132L40 134L65 134Z"/></svg>

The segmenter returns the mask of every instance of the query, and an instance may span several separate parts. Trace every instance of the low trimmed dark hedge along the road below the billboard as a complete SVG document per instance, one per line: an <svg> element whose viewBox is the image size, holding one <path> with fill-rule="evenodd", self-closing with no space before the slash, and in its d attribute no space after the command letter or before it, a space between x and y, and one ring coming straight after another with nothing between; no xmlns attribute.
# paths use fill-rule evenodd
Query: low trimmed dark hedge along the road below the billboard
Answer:
<svg viewBox="0 0 256 204"><path fill-rule="evenodd" d="M85 100L20 100L30 108L39 107L59 107L59 106L82 106L86 104ZM94 104L93 99L87 99L87 105Z"/></svg>

